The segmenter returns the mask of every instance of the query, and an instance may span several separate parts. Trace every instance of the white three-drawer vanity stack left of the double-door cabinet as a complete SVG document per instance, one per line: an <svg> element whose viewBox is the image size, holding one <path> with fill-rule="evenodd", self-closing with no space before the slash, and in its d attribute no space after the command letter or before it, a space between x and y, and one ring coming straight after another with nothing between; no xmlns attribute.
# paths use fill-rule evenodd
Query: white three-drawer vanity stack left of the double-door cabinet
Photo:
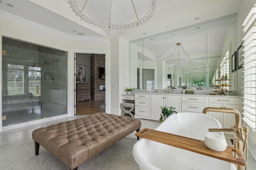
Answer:
<svg viewBox="0 0 256 170"><path fill-rule="evenodd" d="M150 119L151 94L135 94L135 118Z"/></svg>

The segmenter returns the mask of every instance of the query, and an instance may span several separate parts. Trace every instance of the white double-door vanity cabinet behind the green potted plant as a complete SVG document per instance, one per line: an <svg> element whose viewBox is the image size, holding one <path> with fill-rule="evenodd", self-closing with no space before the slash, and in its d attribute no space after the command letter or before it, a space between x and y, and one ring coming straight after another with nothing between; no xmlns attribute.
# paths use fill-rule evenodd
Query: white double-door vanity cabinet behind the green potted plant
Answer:
<svg viewBox="0 0 256 170"><path fill-rule="evenodd" d="M181 96L175 95L151 95L151 117L159 120L161 113L161 106L175 107L175 111L179 113L181 111Z"/></svg>

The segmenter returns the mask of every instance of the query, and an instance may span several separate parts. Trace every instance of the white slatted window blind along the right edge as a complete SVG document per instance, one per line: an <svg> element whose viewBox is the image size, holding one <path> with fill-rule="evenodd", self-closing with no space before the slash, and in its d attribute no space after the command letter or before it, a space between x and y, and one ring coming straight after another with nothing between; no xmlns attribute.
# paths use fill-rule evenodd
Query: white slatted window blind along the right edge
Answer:
<svg viewBox="0 0 256 170"><path fill-rule="evenodd" d="M242 24L244 90L242 120L256 131L256 4Z"/></svg>

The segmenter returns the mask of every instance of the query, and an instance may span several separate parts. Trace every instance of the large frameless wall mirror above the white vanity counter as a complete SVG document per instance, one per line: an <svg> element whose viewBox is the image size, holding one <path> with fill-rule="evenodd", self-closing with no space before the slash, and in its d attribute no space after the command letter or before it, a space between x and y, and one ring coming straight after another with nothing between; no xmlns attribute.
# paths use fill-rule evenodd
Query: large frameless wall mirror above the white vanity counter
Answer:
<svg viewBox="0 0 256 170"><path fill-rule="evenodd" d="M150 79L157 89L185 84L208 90L227 74L229 90L236 91L236 72L231 68L235 47L236 15L130 41L130 87L146 89ZM167 62L186 55L191 62Z"/></svg>

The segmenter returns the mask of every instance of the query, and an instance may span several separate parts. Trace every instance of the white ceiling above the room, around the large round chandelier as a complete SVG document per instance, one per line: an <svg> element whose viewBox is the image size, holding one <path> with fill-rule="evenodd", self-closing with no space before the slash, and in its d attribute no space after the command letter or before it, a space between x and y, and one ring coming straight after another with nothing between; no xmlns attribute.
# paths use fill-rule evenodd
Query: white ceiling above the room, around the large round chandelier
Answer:
<svg viewBox="0 0 256 170"><path fill-rule="evenodd" d="M76 0L77 4L84 4L86 0ZM109 0L108 0L109 1ZM102 2L107 0L88 0L88 12L91 18L105 19L108 23L109 7ZM98 7L93 9L95 2ZM133 0L138 15L145 12L150 0ZM212 20L238 12L242 0L156 0L156 12L148 23L135 29L120 31L123 37L132 40L178 27L192 25L202 21ZM6 4L12 4L14 8ZM101 4L104 6L102 7ZM90 6L89 6L90 5ZM118 8L117 8L118 7ZM130 13L130 0L112 0L112 23L134 21L134 12ZM105 9L105 10L104 10ZM2 11L1 11L2 10ZM143 12L142 12L143 10ZM7 12L26 20L50 27L67 35L111 38L118 31L101 29L88 25L71 11L68 0L0 0L0 14ZM88 14L89 15L89 14ZM142 16L139 16L141 18ZM194 18L199 17L198 21ZM134 18L134 19L132 19ZM102 20L103 22L103 20ZM166 28L166 25L170 27ZM157 29L155 29L157 28ZM76 31L76 32L74 32Z"/></svg>

